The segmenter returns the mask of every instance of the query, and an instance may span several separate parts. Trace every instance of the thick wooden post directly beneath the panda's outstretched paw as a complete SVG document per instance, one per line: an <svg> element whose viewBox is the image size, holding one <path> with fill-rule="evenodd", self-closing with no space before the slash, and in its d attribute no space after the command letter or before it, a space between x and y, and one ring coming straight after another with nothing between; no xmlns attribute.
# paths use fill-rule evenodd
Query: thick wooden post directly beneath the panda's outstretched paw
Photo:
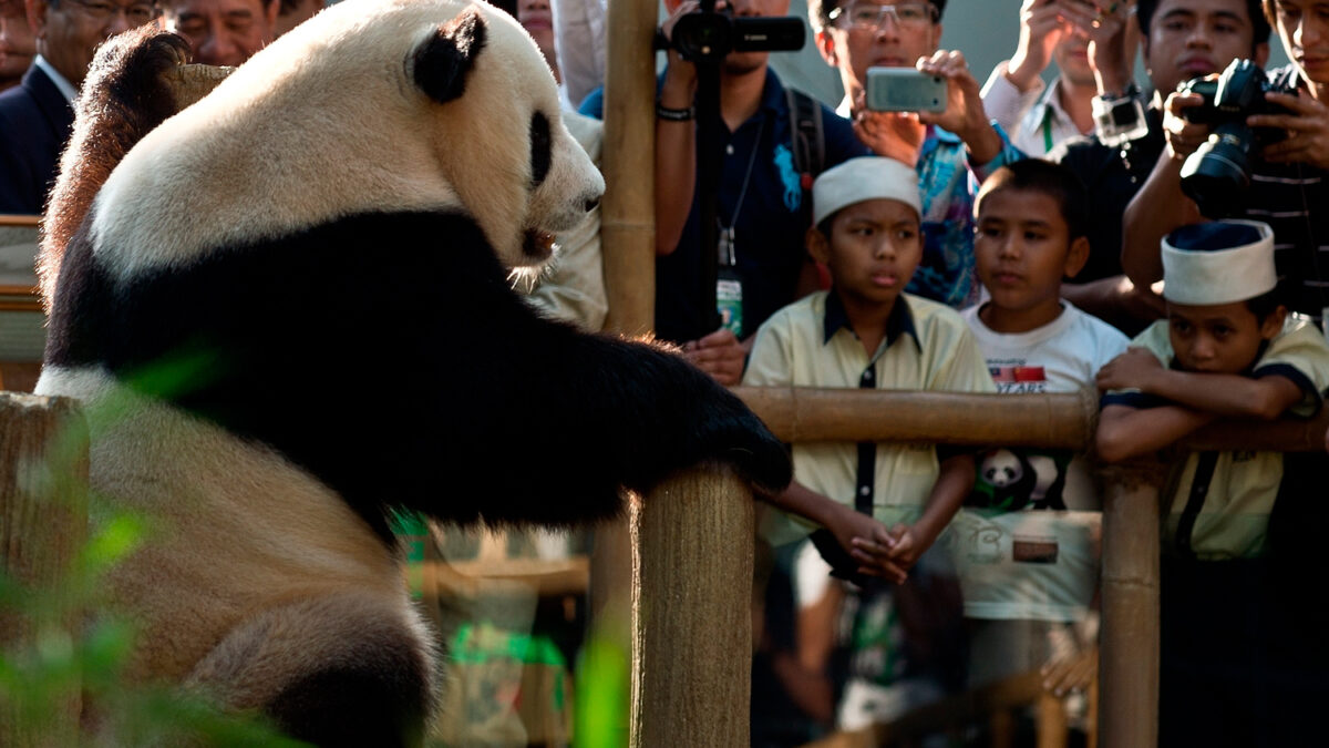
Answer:
<svg viewBox="0 0 1329 748"><path fill-rule="evenodd" d="M750 743L754 514L702 468L633 502L633 748Z"/></svg>

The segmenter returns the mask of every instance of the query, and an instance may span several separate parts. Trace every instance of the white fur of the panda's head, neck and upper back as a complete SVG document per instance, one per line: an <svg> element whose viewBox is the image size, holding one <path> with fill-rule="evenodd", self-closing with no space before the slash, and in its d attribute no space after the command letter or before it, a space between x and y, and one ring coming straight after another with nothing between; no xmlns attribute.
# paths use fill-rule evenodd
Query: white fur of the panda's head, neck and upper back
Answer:
<svg viewBox="0 0 1329 748"><path fill-rule="evenodd" d="M522 230L571 228L581 196L603 182L561 124L534 43L506 13L476 7L486 33L506 39L485 47L462 100L444 105L415 85L412 55L466 4L346 0L296 27L126 154L93 208L100 261L128 278L352 213L461 210L505 264L522 264ZM534 194L528 105L554 136Z"/></svg>

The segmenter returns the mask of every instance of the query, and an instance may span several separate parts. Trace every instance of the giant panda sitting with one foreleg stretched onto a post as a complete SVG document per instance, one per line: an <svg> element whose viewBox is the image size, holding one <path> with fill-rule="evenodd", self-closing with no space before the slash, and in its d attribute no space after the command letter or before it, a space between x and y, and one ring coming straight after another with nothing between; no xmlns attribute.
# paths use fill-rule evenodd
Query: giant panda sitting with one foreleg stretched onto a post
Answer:
<svg viewBox="0 0 1329 748"><path fill-rule="evenodd" d="M37 391L98 414L93 488L155 528L109 579L130 685L314 744L419 744L435 643L392 507L565 526L702 462L788 483L784 447L675 353L509 286L602 190L510 17L346 0L171 114L182 49L102 49L44 248Z"/></svg>

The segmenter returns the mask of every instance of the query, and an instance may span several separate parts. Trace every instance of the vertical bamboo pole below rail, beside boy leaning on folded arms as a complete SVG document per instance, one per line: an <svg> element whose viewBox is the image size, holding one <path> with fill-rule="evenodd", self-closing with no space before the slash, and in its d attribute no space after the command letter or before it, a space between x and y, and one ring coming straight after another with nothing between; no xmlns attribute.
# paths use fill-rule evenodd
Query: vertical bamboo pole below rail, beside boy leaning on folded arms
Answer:
<svg viewBox="0 0 1329 748"><path fill-rule="evenodd" d="M1104 467L1099 745L1158 745L1159 486L1163 467Z"/></svg>

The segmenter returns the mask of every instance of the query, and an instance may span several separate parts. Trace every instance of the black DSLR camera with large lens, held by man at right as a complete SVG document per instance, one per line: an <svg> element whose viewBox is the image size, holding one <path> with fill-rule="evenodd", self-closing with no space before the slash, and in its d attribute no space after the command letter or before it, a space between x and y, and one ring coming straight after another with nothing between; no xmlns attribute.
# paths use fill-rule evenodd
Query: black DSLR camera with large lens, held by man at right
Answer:
<svg viewBox="0 0 1329 748"><path fill-rule="evenodd" d="M1209 140L1181 165L1181 192L1196 202L1208 218L1223 218L1241 210L1251 185L1251 153L1286 137L1278 128L1251 128L1251 114L1282 114L1288 109L1272 104L1265 93L1294 93L1269 85L1260 65L1233 60L1215 79L1195 79L1177 87L1181 93L1197 93L1204 102L1188 106L1183 116L1211 125Z"/></svg>

